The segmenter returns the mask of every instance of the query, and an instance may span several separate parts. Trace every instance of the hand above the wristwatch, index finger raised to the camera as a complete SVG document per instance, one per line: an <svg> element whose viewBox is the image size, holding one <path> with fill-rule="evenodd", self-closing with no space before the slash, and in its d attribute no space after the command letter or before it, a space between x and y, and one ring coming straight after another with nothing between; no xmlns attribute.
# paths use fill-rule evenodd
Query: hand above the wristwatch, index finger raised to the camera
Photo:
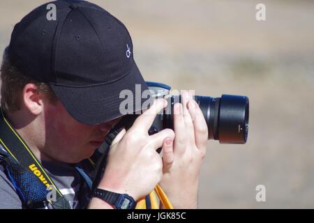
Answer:
<svg viewBox="0 0 314 223"><path fill-rule="evenodd" d="M163 176L163 162L156 150L165 138L174 139L174 132L165 129L149 136L148 130L156 114L166 106L166 100L155 100L127 132L122 130L117 135L99 188L129 194L135 200L154 190Z"/></svg>

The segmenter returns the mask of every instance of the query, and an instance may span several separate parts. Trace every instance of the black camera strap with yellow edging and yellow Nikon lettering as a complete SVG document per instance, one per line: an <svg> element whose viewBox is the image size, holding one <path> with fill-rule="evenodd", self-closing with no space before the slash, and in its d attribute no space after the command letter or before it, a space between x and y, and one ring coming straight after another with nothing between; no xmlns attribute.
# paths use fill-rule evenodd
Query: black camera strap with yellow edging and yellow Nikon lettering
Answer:
<svg viewBox="0 0 314 223"><path fill-rule="evenodd" d="M1 109L1 108L0 108ZM70 204L66 200L66 198L61 194L58 187L54 184L50 176L47 174L43 166L40 164L38 159L33 155L31 152L31 149L25 141L20 137L20 135L15 131L12 125L8 122L6 119L6 116L3 114L3 111L1 109L0 114L0 144L3 147L3 149L10 155L11 160L15 162L15 164L20 164L24 169L27 169L28 171L31 171L31 173L36 176L36 178L39 179L38 182L42 183L47 190L49 188L50 190L56 191L56 199L55 201L48 201L52 204L52 207L55 209L70 209ZM12 167L12 165L9 165L9 167ZM13 165L13 167L16 167L16 165ZM16 171L19 171L17 168L13 169ZM24 178L17 177L18 180L25 180ZM16 180L13 179L12 176L9 173L9 179L10 180ZM37 181L36 181L37 182ZM15 182L16 183L16 182ZM15 185L13 183L13 185ZM33 182L29 182L31 185ZM19 182L17 182L19 184ZM40 187L43 187L43 185L40 185ZM36 185L34 185L36 187ZM17 192L21 188L15 188L17 189ZM22 188L23 190L23 188ZM24 190L27 190L27 188L24 188ZM47 193L49 190L47 190ZM22 196L24 197L24 196ZM47 201L47 200L46 200ZM43 201L43 206L46 201ZM33 208L33 206L29 205L32 202L31 201L24 201L27 203L27 208Z"/></svg>

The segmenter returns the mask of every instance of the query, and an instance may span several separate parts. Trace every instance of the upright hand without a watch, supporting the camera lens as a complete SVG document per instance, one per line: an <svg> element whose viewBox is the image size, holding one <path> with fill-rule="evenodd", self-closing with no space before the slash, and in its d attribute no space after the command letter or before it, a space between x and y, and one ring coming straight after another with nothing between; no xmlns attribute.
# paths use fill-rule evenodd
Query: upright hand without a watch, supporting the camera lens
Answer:
<svg viewBox="0 0 314 223"><path fill-rule="evenodd" d="M163 178L160 186L174 208L197 208L200 167L206 153L208 130L200 107L185 91L174 105L174 141L163 142Z"/></svg>

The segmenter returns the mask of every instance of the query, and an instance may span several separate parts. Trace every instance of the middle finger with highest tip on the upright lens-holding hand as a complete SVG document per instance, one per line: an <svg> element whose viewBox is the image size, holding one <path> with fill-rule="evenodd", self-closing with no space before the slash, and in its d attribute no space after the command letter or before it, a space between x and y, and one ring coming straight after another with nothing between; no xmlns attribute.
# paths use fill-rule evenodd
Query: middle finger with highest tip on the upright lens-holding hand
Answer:
<svg viewBox="0 0 314 223"><path fill-rule="evenodd" d="M194 127L193 121L190 117L190 112L188 112L188 101L193 100L192 94L188 91L184 91L182 94L182 107L183 107L183 116L184 116L184 123L186 125L186 133L187 137L189 138L188 141L194 142Z"/></svg>

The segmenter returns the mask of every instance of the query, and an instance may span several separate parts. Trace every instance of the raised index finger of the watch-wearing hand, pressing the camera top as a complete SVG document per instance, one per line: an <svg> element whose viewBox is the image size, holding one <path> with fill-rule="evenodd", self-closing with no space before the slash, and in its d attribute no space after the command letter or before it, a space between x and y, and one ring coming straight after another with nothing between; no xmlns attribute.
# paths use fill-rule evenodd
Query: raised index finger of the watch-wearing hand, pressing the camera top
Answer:
<svg viewBox="0 0 314 223"><path fill-rule="evenodd" d="M140 130L141 132L148 132L149 128L154 122L156 115L165 107L167 107L167 101L164 99L157 99L154 101L154 104L151 105L143 114L136 118L130 129Z"/></svg>

